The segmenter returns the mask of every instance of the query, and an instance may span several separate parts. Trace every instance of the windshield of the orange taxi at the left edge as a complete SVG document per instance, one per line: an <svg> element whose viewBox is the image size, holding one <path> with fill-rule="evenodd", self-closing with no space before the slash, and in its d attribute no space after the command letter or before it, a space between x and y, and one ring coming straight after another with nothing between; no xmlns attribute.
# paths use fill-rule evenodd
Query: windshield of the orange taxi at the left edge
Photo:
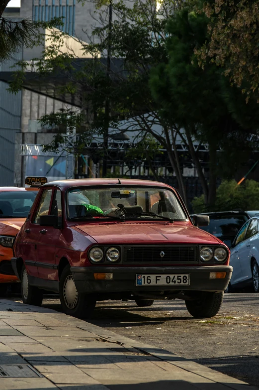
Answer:
<svg viewBox="0 0 259 390"><path fill-rule="evenodd" d="M0 192L0 218L26 218L37 193L38 191Z"/></svg>

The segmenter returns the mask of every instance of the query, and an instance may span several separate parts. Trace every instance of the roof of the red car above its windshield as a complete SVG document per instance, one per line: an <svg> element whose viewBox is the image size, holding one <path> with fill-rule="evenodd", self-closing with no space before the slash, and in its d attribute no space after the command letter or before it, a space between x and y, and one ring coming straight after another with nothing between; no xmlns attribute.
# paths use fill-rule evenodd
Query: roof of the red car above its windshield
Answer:
<svg viewBox="0 0 259 390"><path fill-rule="evenodd" d="M119 182L120 181L120 182ZM98 186L98 185L136 185L149 187L166 187L172 189L171 186L159 181L152 180L138 180L138 179L68 179L57 180L50 183L43 184L42 187L57 186L62 190L70 187L84 187L84 186Z"/></svg>

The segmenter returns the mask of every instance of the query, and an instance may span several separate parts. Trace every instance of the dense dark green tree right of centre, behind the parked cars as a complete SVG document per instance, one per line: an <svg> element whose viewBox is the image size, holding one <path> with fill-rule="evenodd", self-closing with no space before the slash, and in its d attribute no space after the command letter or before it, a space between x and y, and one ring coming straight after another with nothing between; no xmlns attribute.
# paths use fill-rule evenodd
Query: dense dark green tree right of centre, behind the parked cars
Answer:
<svg viewBox="0 0 259 390"><path fill-rule="evenodd" d="M207 61L203 69L199 67L194 50L209 39L207 23L204 13L187 7L171 17L166 38L168 61L152 71L150 85L154 98L161 103L160 115L167 123L177 123L185 129L205 204L214 205L217 177L231 174L228 166L233 166L233 163L238 165L242 158L240 152L244 155L245 148L251 150L252 134L257 137L258 132L251 124L244 125L245 113L248 115L250 112L251 115L254 112L258 117L259 111L255 111L254 107L253 111L251 105L246 105L240 90L231 89L229 80L216 64ZM234 93L237 95L235 98ZM208 184L199 158L195 156L191 136L208 145ZM238 141L240 148L236 148Z"/></svg>

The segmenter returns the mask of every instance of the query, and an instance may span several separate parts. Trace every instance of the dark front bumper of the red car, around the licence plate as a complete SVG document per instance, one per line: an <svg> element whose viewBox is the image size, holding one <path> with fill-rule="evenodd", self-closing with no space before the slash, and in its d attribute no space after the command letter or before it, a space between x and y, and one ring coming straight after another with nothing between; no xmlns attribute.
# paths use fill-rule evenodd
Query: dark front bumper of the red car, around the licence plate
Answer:
<svg viewBox="0 0 259 390"><path fill-rule="evenodd" d="M105 293L105 292L132 292L141 291L224 291L230 281L233 268L229 265L215 266L138 266L138 267L112 267L89 266L71 267L77 290L80 293ZM210 279L210 272L226 272L224 279ZM112 273L112 280L95 280L94 273ZM189 286L137 286L136 274L182 274L190 275Z"/></svg>

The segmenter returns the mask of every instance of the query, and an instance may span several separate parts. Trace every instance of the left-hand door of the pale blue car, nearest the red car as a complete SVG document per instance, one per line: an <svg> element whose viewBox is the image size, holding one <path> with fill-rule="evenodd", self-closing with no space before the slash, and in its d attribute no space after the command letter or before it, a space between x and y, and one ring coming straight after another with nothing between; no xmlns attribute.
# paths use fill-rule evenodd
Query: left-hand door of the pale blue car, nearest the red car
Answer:
<svg viewBox="0 0 259 390"><path fill-rule="evenodd" d="M245 225L240 229L236 239L234 240L233 247L231 248L230 254L230 265L233 267L233 273L231 277L231 284L234 285L242 279L242 268L240 257L244 256L244 240L246 237L247 228L249 222L246 222ZM247 247L245 247L247 248Z"/></svg>

